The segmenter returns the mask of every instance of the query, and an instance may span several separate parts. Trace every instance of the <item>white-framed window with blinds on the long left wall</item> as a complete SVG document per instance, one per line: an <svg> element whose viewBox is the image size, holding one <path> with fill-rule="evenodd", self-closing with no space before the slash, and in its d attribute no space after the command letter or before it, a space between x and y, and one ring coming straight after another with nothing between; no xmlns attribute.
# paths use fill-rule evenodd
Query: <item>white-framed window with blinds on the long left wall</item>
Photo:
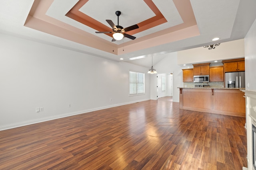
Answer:
<svg viewBox="0 0 256 170"><path fill-rule="evenodd" d="M144 73L130 71L129 94L144 94Z"/></svg>

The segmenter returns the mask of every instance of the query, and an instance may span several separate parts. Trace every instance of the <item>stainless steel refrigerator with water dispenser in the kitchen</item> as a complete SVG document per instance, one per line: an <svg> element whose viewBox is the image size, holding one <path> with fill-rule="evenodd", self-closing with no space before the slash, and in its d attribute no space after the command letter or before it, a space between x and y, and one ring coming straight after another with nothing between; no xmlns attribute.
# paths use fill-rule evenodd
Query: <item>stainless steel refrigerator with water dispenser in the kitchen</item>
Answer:
<svg viewBox="0 0 256 170"><path fill-rule="evenodd" d="M245 88L245 72L226 72L226 88Z"/></svg>

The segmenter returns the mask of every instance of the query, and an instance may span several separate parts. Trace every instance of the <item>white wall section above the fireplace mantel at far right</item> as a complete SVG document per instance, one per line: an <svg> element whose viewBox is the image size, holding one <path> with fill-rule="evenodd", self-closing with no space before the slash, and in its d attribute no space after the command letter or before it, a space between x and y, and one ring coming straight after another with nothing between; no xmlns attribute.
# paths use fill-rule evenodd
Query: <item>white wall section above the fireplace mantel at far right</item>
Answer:
<svg viewBox="0 0 256 170"><path fill-rule="evenodd" d="M256 20L244 38L246 90L256 90ZM249 84L249 86L248 86Z"/></svg>

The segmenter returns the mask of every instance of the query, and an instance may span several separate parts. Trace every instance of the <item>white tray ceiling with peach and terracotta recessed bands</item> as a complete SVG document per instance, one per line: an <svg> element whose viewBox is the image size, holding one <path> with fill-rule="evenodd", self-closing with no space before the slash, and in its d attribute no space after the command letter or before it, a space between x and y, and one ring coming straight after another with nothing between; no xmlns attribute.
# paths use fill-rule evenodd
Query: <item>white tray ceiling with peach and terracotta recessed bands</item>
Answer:
<svg viewBox="0 0 256 170"><path fill-rule="evenodd" d="M134 64L210 45L214 37L220 38L214 43L242 39L256 19L255 0L1 0L0 6L1 32ZM116 11L122 27L139 26L126 32L136 39L112 42L112 34L95 33L112 31L106 20L117 25Z"/></svg>

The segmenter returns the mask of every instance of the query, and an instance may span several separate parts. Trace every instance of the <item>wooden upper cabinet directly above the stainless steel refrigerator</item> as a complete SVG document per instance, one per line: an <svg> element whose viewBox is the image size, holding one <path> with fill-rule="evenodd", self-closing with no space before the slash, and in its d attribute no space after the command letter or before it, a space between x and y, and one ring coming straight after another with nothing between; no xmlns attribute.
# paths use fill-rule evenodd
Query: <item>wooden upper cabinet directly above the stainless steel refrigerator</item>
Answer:
<svg viewBox="0 0 256 170"><path fill-rule="evenodd" d="M244 58L223 60L222 63L224 64L224 72L245 71Z"/></svg>

